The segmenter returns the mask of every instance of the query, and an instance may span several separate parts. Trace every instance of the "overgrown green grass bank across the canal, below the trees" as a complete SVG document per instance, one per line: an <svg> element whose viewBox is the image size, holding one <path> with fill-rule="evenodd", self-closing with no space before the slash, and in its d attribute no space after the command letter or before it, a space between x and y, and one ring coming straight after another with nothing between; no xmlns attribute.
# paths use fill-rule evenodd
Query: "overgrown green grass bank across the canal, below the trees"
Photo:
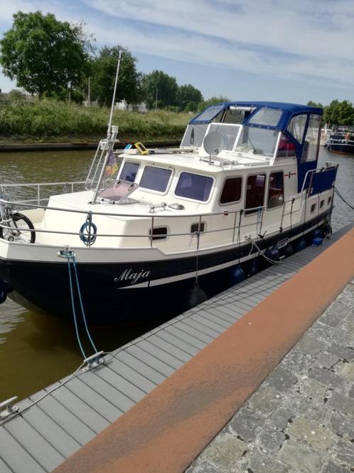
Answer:
<svg viewBox="0 0 354 473"><path fill-rule="evenodd" d="M147 113L114 111L112 123L119 125L119 139L181 140L188 120L186 113L154 110ZM57 100L33 103L0 102L0 142L90 142L107 133L109 108L85 108Z"/></svg>

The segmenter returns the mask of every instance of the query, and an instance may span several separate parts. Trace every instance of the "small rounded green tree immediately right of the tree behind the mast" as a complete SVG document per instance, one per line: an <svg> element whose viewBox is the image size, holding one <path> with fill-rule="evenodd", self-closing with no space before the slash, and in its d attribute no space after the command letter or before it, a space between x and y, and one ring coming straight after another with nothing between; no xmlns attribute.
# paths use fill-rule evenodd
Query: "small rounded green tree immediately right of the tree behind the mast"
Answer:
<svg viewBox="0 0 354 473"><path fill-rule="evenodd" d="M178 85L175 77L168 76L163 71L152 71L143 77L142 87L148 108L155 107L156 93L159 108L166 108L168 105L178 105Z"/></svg>

